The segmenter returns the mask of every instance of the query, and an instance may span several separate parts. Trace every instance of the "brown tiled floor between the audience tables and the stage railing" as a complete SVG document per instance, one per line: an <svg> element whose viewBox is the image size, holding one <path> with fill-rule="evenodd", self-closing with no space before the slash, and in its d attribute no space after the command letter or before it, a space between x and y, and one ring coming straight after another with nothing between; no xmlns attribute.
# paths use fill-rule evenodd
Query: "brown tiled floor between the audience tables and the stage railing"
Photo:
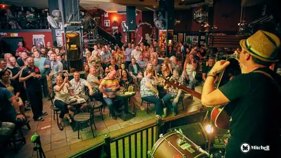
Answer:
<svg viewBox="0 0 281 158"><path fill-rule="evenodd" d="M201 93L202 87L196 87L196 91ZM154 106L152 111L147 114L146 110L139 110L138 106L141 102L139 95L136 96L136 117L128 121L122 121L120 118L113 120L109 117L108 109L105 108L103 113L104 120L95 113L95 124L97 129L94 130L95 138L92 136L90 127L84 128L80 133L80 139L78 139L78 131L73 131L69 123L64 120L64 130L60 131L57 126L57 120L53 120L53 111L50 109L51 102L46 98L43 99L43 110L48 112L48 116L44 117L43 122L35 122L30 119L31 130L23 130L27 139L27 144L18 145L18 153L15 154L13 150L9 150L6 157L37 157L36 151L33 151L34 144L30 142L30 137L33 133L37 132L40 135L43 151L46 157L67 157L73 155L83 149L86 149L92 145L98 144L104 141L104 136L107 134L110 137L119 136L131 130L139 127L144 127L146 124L155 122L155 111ZM185 110L179 110L179 116L186 114L187 111L197 110L200 105L200 100L194 98L193 101L190 99L184 99ZM146 105L144 105L146 108ZM132 109L132 107L130 107ZM179 109L182 109L179 105ZM28 114L32 118L32 112ZM172 116L169 116L172 117ZM168 118L169 118L168 117ZM92 126L95 129L94 126ZM140 137L138 137L140 138ZM149 142L149 145L151 143ZM111 144L111 150L115 150L115 145ZM150 145L151 146L151 145ZM120 148L119 148L120 149ZM122 152L122 151L121 151ZM120 154L122 154L119 152ZM132 151L133 153L134 151ZM140 149L138 150L140 152ZM114 154L114 153L113 153ZM127 154L127 153L126 153ZM114 156L114 155L112 155Z"/></svg>

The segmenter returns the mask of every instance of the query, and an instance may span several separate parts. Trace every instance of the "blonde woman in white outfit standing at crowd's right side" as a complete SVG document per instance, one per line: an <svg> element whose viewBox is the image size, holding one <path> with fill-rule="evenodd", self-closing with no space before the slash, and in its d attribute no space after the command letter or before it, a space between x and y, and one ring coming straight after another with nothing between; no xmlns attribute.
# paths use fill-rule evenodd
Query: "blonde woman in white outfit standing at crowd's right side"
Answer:
<svg viewBox="0 0 281 158"><path fill-rule="evenodd" d="M188 55L184 62L183 66L183 73L185 78L189 80L189 88L193 89L193 85L195 82L195 75L196 75L196 68L197 68L197 60L194 60L193 54Z"/></svg>

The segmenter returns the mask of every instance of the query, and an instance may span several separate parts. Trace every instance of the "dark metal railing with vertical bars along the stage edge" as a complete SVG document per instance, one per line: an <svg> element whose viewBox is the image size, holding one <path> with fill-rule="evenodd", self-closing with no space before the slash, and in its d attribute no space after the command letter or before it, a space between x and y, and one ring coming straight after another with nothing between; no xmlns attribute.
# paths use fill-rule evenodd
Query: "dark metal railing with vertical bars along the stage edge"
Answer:
<svg viewBox="0 0 281 158"><path fill-rule="evenodd" d="M159 134L166 132L165 127L163 126L164 124L171 123L172 121L176 121L179 119L183 119L183 118L191 116L193 114L198 114L198 113L200 114L200 112L202 112L202 114L203 114L204 111L201 111L201 110L202 109L198 109L195 112L185 113L183 115L178 115L176 117L172 117L169 119L164 119L164 120L156 119L156 122L150 123L150 124L146 125L145 127L137 128L126 134L121 134L120 136L109 137L109 136L105 135L104 142L101 144L104 147L107 157L119 158L120 156L122 156L123 158L125 158L125 157L143 158L144 153L145 153L145 157L148 158L149 157L148 151L150 151L152 149L154 143L157 142L157 140L159 139ZM202 115L202 116L204 116L204 115ZM202 116L198 117L197 120L201 122ZM138 139L138 135L139 135L139 139ZM99 144L99 145L101 145L101 144ZM128 145L126 146L126 144L128 144ZM86 157L86 154L89 155L89 152L96 155L96 153L97 153L96 148L97 148L96 146L93 146L93 147L86 149L82 152L79 152L76 155L73 155L71 157ZM138 151L140 151L140 153ZM122 153L122 154L120 154L120 153Z"/></svg>

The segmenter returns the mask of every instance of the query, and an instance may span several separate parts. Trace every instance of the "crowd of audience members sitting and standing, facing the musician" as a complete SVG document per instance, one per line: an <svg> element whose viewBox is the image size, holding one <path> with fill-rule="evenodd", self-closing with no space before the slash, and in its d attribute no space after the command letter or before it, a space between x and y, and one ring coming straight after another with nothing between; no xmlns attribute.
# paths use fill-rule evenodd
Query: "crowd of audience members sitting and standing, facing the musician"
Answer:
<svg viewBox="0 0 281 158"><path fill-rule="evenodd" d="M13 54L6 53L4 59L0 59L0 97L4 100L0 121L28 122L25 111L29 107L34 121L44 121L44 116L48 114L43 111L42 99L45 97L50 100L50 94L54 93L54 105L61 111L58 128L63 130L63 118L73 122L72 112L69 111L81 111L88 106L87 102L81 106L70 106L66 99L69 96L87 95L86 89L89 89L88 95L93 95L108 106L111 117L116 120L116 116L122 112L122 106L125 114L128 114L128 102L115 92L121 87L128 89L131 85L144 101L155 104L156 117L166 117L163 115L164 105L176 116L177 104L182 101L184 94L176 88L169 88L166 93L161 85L164 80L171 78L193 89L199 60L204 59L202 56L207 50L204 46L191 48L185 43L170 48L167 57L158 50L156 41L150 46L128 43L121 48L97 44L91 52L85 48L84 72L78 72L75 67L69 69L65 51L51 47L50 42L46 48L32 46L30 51L23 46L23 42L18 42ZM209 68L206 67L204 73L213 64L214 60L209 58ZM73 79L70 80L69 76L73 76ZM93 89L99 93L94 94ZM120 101L120 106L114 104L116 100ZM136 102L136 98L132 97L129 105ZM145 109L143 106L139 108Z"/></svg>

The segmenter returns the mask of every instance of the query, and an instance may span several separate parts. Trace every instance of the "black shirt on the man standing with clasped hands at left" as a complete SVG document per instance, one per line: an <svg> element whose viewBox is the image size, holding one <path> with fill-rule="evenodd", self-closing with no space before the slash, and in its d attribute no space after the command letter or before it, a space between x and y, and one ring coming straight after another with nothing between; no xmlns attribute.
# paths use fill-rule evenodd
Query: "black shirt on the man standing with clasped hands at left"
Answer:
<svg viewBox="0 0 281 158"><path fill-rule="evenodd" d="M37 75L41 74L38 67L34 66L33 69L29 66L25 67L20 72L20 77L27 77L31 73L36 73ZM34 89L41 89L41 82L39 78L30 77L26 81L26 87L27 88L34 88Z"/></svg>

